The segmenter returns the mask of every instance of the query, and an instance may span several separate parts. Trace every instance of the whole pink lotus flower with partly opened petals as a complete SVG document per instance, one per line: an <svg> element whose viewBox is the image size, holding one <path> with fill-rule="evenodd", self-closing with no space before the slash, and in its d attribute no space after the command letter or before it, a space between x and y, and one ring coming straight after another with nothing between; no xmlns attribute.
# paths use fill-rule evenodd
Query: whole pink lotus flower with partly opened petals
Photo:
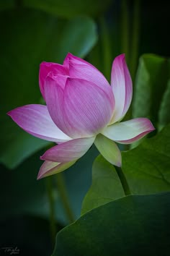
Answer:
<svg viewBox="0 0 170 256"><path fill-rule="evenodd" d="M99 70L68 54L61 64L40 64L40 91L47 106L27 105L9 111L26 132L58 143L41 156L37 179L75 163L94 143L109 163L121 166L115 142L129 144L153 131L146 118L122 121L132 99L125 54L112 64L111 86Z"/></svg>

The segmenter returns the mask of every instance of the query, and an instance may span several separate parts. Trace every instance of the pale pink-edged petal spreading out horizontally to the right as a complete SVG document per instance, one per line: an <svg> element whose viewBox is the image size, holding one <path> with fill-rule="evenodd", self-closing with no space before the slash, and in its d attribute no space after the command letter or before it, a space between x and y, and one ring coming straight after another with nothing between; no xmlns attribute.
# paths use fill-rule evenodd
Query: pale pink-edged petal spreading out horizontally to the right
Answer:
<svg viewBox="0 0 170 256"><path fill-rule="evenodd" d="M136 118L112 124L105 128L102 134L116 142L130 144L141 139L154 129L155 128L149 119Z"/></svg>

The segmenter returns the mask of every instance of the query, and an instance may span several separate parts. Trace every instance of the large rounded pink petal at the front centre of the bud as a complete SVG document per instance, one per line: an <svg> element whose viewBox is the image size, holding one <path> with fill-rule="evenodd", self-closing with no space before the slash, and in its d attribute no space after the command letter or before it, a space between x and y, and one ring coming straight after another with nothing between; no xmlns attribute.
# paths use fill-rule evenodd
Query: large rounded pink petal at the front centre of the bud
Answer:
<svg viewBox="0 0 170 256"><path fill-rule="evenodd" d="M68 78L64 90L66 120L73 127L71 137L97 135L112 117L114 101L93 83Z"/></svg>

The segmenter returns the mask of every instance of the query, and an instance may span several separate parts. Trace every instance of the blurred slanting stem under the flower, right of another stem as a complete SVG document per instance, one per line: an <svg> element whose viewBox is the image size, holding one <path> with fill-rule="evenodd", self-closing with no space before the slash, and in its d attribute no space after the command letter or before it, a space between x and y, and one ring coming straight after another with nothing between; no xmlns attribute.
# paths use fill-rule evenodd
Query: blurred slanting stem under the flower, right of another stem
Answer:
<svg viewBox="0 0 170 256"><path fill-rule="evenodd" d="M61 196L61 201L63 202L63 208L66 210L66 215L68 217L68 221L70 223L73 223L73 221L75 221L75 220L74 220L73 212L71 210L70 203L68 200L68 195L66 192L66 184L64 182L62 172L57 174L57 187L58 187L58 192Z"/></svg>

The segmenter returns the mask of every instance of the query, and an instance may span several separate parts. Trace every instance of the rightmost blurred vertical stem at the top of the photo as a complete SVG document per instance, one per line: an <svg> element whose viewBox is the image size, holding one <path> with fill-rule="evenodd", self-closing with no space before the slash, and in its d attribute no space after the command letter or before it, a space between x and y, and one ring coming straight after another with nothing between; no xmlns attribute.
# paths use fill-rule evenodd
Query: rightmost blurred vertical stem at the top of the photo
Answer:
<svg viewBox="0 0 170 256"><path fill-rule="evenodd" d="M134 82L135 72L137 68L138 61L138 47L139 47L139 38L140 38L140 0L134 1L133 8L133 34L132 34L132 43L130 51L130 67L131 67L131 76Z"/></svg>

